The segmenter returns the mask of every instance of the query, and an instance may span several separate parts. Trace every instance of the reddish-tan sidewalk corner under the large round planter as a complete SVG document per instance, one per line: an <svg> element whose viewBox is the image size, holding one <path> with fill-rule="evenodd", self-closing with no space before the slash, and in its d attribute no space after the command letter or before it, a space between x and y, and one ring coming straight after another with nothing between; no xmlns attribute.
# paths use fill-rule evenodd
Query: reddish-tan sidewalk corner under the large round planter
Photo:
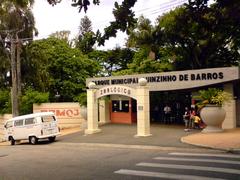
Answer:
<svg viewBox="0 0 240 180"><path fill-rule="evenodd" d="M196 133L181 138L183 143L240 153L240 128L220 133Z"/></svg>

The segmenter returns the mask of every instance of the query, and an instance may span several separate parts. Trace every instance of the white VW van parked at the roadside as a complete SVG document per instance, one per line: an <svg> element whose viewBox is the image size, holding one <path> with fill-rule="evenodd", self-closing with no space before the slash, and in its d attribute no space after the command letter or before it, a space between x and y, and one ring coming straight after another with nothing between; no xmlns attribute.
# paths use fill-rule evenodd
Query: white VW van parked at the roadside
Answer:
<svg viewBox="0 0 240 180"><path fill-rule="evenodd" d="M53 112L41 112L17 116L9 119L4 124L5 140L11 145L15 141L29 140L29 143L36 144L39 139L48 138L55 141L60 134L57 119Z"/></svg>

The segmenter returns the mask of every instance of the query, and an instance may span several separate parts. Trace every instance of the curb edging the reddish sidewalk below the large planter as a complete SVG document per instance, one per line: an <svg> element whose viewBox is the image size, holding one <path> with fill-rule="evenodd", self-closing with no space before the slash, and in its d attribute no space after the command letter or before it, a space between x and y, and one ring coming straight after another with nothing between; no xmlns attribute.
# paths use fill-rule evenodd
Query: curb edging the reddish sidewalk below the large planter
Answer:
<svg viewBox="0 0 240 180"><path fill-rule="evenodd" d="M226 151L228 153L233 153L233 154L240 154L240 149L236 148L221 148L221 147L216 147L216 146L211 146L211 145L206 145L206 144L198 144L194 142L190 142L185 139L185 137L181 138L181 142L185 144L190 144L193 146L198 146L198 147L204 147L204 148L209 148L209 149L215 149L215 150L220 150L220 151Z"/></svg>

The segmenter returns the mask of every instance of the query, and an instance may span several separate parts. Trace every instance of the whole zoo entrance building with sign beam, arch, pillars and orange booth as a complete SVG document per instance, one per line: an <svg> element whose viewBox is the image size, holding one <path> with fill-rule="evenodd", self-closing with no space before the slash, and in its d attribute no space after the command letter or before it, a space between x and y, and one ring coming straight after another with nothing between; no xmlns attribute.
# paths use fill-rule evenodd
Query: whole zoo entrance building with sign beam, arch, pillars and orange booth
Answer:
<svg viewBox="0 0 240 180"><path fill-rule="evenodd" d="M136 123L137 136L151 135L150 123L183 124L185 107L194 107L196 92L209 87L224 89L232 95L230 104L224 107L227 116L223 128L235 128L240 124L236 113L240 110L239 76L239 67L230 67L89 78L86 81L89 89L85 133L101 131L99 122ZM166 105L171 109L167 118L164 114Z"/></svg>

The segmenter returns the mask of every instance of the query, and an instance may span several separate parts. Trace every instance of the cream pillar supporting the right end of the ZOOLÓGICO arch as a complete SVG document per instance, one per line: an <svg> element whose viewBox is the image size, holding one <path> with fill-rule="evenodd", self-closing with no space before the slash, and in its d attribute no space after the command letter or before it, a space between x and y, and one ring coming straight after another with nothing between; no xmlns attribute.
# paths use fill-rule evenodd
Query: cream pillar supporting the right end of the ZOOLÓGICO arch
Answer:
<svg viewBox="0 0 240 180"><path fill-rule="evenodd" d="M141 79L139 79L139 83ZM146 85L146 84L145 84ZM150 105L149 88L144 83L137 88L137 135L151 136L150 134Z"/></svg>

